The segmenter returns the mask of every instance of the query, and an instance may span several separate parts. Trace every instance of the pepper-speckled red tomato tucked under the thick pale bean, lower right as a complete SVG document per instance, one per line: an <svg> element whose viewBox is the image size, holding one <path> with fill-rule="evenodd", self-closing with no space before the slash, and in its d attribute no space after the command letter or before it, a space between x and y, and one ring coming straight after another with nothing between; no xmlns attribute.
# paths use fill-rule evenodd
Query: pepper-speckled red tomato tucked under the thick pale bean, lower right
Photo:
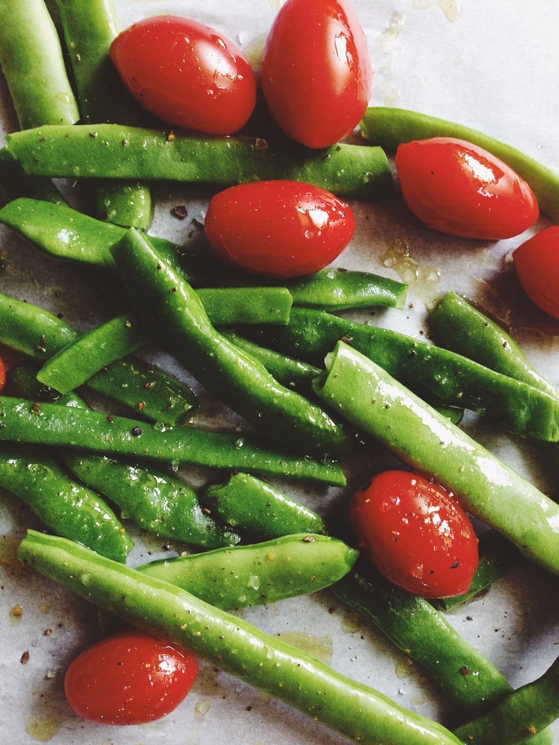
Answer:
<svg viewBox="0 0 559 745"><path fill-rule="evenodd" d="M464 595L478 564L478 539L450 492L408 471L385 471L350 501L364 556L413 595Z"/></svg>

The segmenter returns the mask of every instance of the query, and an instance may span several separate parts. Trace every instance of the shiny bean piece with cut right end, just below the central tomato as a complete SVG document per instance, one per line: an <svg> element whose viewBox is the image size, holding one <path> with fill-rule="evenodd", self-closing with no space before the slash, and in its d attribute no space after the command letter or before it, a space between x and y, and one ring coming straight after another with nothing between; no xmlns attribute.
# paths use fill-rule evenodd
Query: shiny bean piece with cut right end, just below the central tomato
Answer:
<svg viewBox="0 0 559 745"><path fill-rule="evenodd" d="M408 294L408 285L396 279L332 267L292 279L286 286L293 296L294 305L321 311L374 306L402 310Z"/></svg>

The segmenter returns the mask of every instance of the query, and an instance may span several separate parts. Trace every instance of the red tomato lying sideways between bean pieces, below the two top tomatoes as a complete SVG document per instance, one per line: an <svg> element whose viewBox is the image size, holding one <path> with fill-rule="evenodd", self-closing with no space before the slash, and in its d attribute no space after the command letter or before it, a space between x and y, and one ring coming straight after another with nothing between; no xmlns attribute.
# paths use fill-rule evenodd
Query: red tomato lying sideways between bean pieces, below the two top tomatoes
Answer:
<svg viewBox="0 0 559 745"><path fill-rule="evenodd" d="M353 237L350 206L329 191L299 181L256 181L215 194L206 238L219 259L269 277L312 274Z"/></svg>

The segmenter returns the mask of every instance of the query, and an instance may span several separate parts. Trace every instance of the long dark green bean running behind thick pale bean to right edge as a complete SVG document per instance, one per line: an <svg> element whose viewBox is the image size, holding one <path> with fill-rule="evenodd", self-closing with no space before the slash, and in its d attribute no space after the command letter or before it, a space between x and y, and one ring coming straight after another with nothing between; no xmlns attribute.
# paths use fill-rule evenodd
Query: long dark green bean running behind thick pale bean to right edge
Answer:
<svg viewBox="0 0 559 745"><path fill-rule="evenodd" d="M265 332L271 336L270 329ZM540 440L559 438L556 396L440 346L304 308L293 308L288 325L274 329L272 335L279 349L311 363L323 358L338 340L347 340L435 405L484 413L509 431Z"/></svg>

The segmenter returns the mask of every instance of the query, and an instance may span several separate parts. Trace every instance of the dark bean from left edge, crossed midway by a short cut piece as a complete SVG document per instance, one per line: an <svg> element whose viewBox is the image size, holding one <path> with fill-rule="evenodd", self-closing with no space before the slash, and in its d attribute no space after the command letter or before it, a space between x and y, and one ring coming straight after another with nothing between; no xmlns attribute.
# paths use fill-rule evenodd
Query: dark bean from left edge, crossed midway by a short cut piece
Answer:
<svg viewBox="0 0 559 745"><path fill-rule="evenodd" d="M1 343L34 360L48 359L80 336L49 311L2 293L0 318ZM168 425L190 416L197 403L189 386L140 359L114 362L89 378L87 385L146 419Z"/></svg>

